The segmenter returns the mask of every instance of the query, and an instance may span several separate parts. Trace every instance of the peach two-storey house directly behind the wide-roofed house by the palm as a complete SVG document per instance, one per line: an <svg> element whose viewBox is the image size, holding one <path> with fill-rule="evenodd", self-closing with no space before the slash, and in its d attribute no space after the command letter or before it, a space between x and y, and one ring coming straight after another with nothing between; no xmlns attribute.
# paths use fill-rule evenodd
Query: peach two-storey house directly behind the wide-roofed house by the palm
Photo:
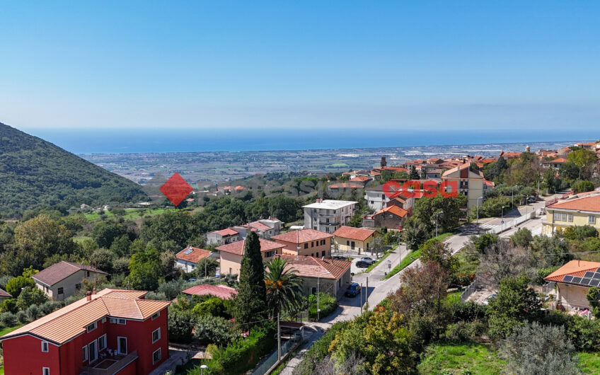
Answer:
<svg viewBox="0 0 600 375"><path fill-rule="evenodd" d="M315 229L289 231L271 239L284 246L287 255L306 255L311 257L329 257L331 255L333 233L324 233Z"/></svg>

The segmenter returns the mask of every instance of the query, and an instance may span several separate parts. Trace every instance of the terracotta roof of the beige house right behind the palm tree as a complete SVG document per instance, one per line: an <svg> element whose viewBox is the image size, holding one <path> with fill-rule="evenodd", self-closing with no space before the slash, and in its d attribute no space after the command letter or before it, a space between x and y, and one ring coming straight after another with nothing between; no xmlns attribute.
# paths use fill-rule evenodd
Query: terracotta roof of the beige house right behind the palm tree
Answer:
<svg viewBox="0 0 600 375"><path fill-rule="evenodd" d="M277 255L287 260L286 269L293 268L301 277L338 279L350 268L352 262L337 259L321 259L302 255Z"/></svg>

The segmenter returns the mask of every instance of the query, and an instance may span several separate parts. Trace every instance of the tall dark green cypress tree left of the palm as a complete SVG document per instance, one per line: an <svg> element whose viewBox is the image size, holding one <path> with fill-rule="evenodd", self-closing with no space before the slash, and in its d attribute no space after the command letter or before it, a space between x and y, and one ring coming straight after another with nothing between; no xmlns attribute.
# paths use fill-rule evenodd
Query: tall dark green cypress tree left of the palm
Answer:
<svg viewBox="0 0 600 375"><path fill-rule="evenodd" d="M260 241L255 232L248 233L240 268L240 283L235 299L234 316L238 323L260 321L267 316L265 266L260 254Z"/></svg>

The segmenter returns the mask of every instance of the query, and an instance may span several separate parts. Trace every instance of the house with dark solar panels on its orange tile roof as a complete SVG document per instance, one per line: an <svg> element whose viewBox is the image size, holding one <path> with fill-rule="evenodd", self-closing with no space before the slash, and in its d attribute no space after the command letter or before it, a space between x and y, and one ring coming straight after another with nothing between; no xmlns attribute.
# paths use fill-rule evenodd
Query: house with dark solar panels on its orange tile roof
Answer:
<svg viewBox="0 0 600 375"><path fill-rule="evenodd" d="M560 307L567 311L590 308L586 298L587 290L589 287L599 287L600 262L571 260L544 279L556 283L556 299Z"/></svg>

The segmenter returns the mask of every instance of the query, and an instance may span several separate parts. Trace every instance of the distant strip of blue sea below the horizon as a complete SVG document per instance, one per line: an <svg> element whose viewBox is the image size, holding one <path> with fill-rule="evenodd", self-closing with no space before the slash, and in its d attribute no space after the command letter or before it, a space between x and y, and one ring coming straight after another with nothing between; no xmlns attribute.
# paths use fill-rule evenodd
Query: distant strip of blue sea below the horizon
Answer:
<svg viewBox="0 0 600 375"><path fill-rule="evenodd" d="M26 129L74 154L354 149L585 141L580 132L419 129Z"/></svg>

